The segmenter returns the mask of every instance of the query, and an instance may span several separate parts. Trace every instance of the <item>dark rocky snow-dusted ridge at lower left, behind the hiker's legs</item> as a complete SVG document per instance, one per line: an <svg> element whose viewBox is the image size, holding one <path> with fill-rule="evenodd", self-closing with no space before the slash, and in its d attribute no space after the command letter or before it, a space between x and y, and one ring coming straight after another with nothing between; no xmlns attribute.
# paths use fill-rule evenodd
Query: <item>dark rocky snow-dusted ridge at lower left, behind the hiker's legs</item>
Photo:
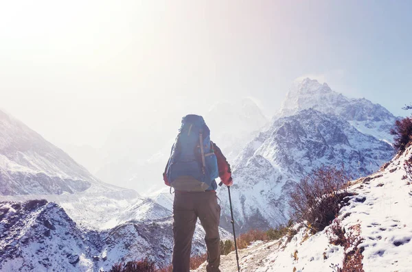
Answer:
<svg viewBox="0 0 412 272"><path fill-rule="evenodd" d="M167 265L173 241L170 215L97 231L80 227L56 203L3 201L0 271L108 271L117 262L146 256L159 266ZM204 236L198 225L192 254L205 253ZM221 236L229 238L224 230Z"/></svg>

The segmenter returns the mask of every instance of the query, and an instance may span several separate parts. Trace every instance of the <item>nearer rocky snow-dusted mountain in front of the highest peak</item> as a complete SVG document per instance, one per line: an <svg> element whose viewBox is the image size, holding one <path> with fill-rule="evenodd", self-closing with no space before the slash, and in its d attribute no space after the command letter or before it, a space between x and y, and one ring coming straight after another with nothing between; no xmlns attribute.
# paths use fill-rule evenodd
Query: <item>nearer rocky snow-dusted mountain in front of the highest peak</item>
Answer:
<svg viewBox="0 0 412 272"><path fill-rule="evenodd" d="M373 173L392 156L391 145L332 114L309 109L277 119L233 164L236 220L244 231L285 223L288 190L312 169L343 165L352 177L359 177ZM223 216L229 218L227 195L220 199ZM222 224L230 228L225 220Z"/></svg>

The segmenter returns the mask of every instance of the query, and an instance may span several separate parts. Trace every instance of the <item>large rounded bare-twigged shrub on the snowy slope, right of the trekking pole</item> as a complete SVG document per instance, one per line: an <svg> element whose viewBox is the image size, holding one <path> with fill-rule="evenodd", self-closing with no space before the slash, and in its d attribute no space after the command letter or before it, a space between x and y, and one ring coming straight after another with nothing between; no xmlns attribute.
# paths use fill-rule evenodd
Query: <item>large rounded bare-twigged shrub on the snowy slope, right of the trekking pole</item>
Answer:
<svg viewBox="0 0 412 272"><path fill-rule="evenodd" d="M350 177L344 169L321 166L304 177L290 193L290 215L297 222L307 221L307 226L319 232L339 214L343 199L349 195Z"/></svg>

